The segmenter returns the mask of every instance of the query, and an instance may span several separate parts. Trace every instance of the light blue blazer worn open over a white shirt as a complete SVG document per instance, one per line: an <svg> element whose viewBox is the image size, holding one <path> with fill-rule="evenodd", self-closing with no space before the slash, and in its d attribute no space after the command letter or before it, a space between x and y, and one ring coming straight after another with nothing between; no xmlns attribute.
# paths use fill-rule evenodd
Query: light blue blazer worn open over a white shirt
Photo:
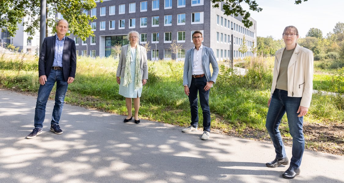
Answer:
<svg viewBox="0 0 344 183"><path fill-rule="evenodd" d="M189 88L192 79L193 55L194 48L187 50L184 61L183 85L187 84ZM210 64L212 64L213 67L213 75L211 75L210 72ZM207 81L213 81L215 83L219 69L213 49L203 46L202 65Z"/></svg>

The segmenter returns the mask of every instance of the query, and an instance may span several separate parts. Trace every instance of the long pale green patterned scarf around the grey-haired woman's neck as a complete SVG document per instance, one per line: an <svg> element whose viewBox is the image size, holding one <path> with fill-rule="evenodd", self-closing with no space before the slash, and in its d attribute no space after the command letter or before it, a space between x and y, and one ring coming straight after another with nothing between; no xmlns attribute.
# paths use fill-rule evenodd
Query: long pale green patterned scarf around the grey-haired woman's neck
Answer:
<svg viewBox="0 0 344 183"><path fill-rule="evenodd" d="M135 59L135 91L142 88L142 78L140 69L140 54L138 52L138 47L136 47L136 59ZM126 57L126 68L124 70L124 82L123 86L128 87L128 84L132 82L131 72L130 72L130 62L131 62L131 45L128 45L128 52Z"/></svg>

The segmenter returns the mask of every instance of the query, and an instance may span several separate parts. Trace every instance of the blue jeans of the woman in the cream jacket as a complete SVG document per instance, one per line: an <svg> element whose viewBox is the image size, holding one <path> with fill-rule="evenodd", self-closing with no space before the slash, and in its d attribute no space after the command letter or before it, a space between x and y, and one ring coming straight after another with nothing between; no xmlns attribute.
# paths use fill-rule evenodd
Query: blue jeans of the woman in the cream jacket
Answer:
<svg viewBox="0 0 344 183"><path fill-rule="evenodd" d="M301 97L290 97L285 90L276 89L271 98L268 114L266 117L266 129L269 132L273 146L275 147L276 158L287 157L278 126L284 113L287 113L289 133L293 138L292 157L290 166L298 169L301 165L304 151L304 137L302 132L303 116L298 117Z"/></svg>

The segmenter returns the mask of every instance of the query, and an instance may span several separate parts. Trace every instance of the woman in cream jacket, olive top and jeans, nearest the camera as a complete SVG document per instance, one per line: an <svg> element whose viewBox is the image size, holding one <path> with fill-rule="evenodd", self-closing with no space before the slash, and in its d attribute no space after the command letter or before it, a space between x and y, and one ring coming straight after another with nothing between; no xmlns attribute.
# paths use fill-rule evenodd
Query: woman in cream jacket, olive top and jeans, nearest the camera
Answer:
<svg viewBox="0 0 344 183"><path fill-rule="evenodd" d="M268 101L266 128L275 147L275 160L266 163L275 168L289 164L278 129L284 113L287 113L289 133L293 138L292 157L283 178L293 179L300 174L304 151L302 132L303 116L307 114L313 91L313 53L297 44L299 33L296 27L287 26L283 32L286 47L277 50L271 95Z"/></svg>

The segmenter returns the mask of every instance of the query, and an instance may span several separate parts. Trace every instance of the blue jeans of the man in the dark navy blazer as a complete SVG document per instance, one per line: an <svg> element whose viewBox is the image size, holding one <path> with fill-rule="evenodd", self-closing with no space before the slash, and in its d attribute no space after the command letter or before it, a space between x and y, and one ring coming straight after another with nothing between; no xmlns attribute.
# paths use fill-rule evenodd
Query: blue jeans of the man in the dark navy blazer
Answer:
<svg viewBox="0 0 344 183"><path fill-rule="evenodd" d="M51 125L58 124L60 121L64 98L67 92L68 83L64 80L62 70L51 70L44 85L40 85L38 90L37 103L35 108L34 125L35 128L43 128L45 118L45 107L51 90L56 82L55 105L51 120Z"/></svg>

